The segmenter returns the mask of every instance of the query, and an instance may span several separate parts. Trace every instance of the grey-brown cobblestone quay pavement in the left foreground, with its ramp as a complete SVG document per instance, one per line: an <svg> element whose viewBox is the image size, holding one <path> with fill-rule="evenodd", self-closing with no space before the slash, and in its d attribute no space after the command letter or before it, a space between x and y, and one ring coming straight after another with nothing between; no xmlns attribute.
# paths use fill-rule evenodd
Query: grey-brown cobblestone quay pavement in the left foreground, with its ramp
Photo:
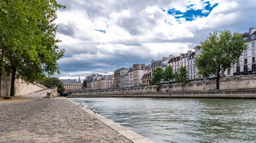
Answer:
<svg viewBox="0 0 256 143"><path fill-rule="evenodd" d="M65 97L0 104L0 142L131 142Z"/></svg>

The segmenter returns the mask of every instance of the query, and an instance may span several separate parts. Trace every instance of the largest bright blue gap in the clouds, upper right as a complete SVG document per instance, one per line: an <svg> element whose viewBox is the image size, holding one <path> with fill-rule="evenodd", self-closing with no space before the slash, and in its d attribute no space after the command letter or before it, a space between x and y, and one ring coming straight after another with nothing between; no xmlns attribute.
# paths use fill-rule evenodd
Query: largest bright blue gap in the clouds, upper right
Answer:
<svg viewBox="0 0 256 143"><path fill-rule="evenodd" d="M211 13L211 10L218 5L217 3L211 6L209 2L205 2L203 4L208 4L208 5L206 5L204 9L198 9L198 10L192 9L191 7L193 5L188 5L187 8L189 10L187 10L185 13L182 13L179 10L176 10L174 8L169 9L167 12L168 14L173 15L176 19L184 17L186 18L186 21L192 21L194 19L197 19L198 17L207 17Z"/></svg>

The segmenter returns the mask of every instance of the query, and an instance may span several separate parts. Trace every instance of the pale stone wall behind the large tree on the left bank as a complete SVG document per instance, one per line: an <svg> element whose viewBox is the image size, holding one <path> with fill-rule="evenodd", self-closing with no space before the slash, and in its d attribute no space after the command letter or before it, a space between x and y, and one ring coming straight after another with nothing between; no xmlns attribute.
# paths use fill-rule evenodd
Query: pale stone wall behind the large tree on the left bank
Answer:
<svg viewBox="0 0 256 143"><path fill-rule="evenodd" d="M2 77L1 97L10 96L11 79L12 79L12 73L10 73L9 76L5 75L4 77ZM21 79L15 79L15 87L16 87L16 93L14 95L15 97L19 97L22 95L26 95L26 94L30 94L33 92L37 92L37 91L46 89L46 87L41 84L31 84L30 83L27 85Z"/></svg>

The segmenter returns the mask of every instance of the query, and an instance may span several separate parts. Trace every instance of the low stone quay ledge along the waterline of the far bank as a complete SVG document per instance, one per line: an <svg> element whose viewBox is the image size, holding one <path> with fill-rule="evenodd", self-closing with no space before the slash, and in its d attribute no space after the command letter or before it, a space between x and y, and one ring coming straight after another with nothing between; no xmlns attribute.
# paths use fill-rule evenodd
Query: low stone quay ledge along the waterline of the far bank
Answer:
<svg viewBox="0 0 256 143"><path fill-rule="evenodd" d="M118 93L118 94L70 94L67 97L164 97L164 98L228 98L256 99L256 88L219 89L198 91L147 92L147 93Z"/></svg>

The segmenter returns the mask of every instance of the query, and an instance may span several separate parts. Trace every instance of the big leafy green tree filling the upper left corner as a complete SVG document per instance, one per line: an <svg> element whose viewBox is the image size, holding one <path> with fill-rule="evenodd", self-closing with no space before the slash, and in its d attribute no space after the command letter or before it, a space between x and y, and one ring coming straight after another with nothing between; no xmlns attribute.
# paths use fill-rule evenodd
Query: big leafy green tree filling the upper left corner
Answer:
<svg viewBox="0 0 256 143"><path fill-rule="evenodd" d="M45 74L60 73L57 60L64 50L57 50L58 26L52 22L57 18L57 8L61 7L65 8L55 0L0 1L0 68L4 75L4 65L8 61L12 69L11 96L14 95L15 78L34 83Z"/></svg>

